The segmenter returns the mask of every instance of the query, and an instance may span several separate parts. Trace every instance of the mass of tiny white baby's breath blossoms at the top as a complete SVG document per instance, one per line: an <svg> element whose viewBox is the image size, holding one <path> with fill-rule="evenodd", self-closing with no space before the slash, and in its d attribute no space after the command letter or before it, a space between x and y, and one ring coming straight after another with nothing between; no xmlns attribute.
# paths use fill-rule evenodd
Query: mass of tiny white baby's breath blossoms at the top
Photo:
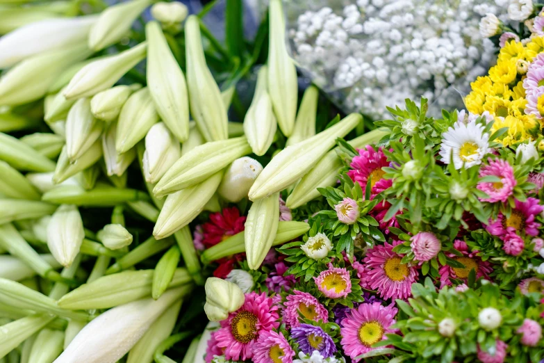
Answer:
<svg viewBox="0 0 544 363"><path fill-rule="evenodd" d="M288 14L298 11L289 30L293 56L346 111L379 118L385 106L420 96L434 111L461 107L459 93L468 89L460 85L493 58L493 44L479 35L481 17L507 17L509 4L496 2L322 0L308 1L301 13L291 1Z"/></svg>

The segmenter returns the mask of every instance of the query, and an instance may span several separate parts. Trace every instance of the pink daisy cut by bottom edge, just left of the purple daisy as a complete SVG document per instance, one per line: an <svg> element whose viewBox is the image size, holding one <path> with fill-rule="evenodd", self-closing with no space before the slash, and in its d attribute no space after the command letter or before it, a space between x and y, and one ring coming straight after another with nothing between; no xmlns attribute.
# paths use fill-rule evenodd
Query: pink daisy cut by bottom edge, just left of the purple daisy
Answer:
<svg viewBox="0 0 544 363"><path fill-rule="evenodd" d="M295 350L283 334L274 330L261 332L253 346L254 363L291 363L292 357L295 357Z"/></svg>

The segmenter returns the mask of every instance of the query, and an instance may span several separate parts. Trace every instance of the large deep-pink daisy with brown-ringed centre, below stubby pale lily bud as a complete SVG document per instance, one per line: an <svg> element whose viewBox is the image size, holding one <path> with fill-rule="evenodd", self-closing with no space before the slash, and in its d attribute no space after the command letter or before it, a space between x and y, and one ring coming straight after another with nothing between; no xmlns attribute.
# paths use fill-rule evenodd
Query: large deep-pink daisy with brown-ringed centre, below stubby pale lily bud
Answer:
<svg viewBox="0 0 544 363"><path fill-rule="evenodd" d="M277 309L265 293L246 293L244 305L221 321L221 329L215 334L217 347L224 348L225 358L251 359L258 335L279 327Z"/></svg>

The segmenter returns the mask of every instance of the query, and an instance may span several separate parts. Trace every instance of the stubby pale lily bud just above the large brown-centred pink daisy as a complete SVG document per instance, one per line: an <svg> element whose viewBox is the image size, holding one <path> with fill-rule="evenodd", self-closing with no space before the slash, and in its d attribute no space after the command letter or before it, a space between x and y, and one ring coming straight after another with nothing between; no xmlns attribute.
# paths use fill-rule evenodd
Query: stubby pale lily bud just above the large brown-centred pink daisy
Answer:
<svg viewBox="0 0 544 363"><path fill-rule="evenodd" d="M208 277L204 289L206 289L204 312L210 321L222 321L229 316L229 312L236 312L244 305L244 292L232 282Z"/></svg>

